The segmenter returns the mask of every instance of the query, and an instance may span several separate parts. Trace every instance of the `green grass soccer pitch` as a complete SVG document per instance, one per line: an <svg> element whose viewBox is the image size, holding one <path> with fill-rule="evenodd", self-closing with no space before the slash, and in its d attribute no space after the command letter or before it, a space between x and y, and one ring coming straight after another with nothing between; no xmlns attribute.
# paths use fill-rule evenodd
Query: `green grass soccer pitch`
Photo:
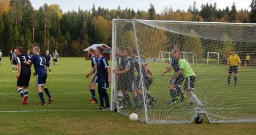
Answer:
<svg viewBox="0 0 256 135"><path fill-rule="evenodd" d="M170 77L170 75L158 76L165 67L166 64L151 65L154 77L159 79L154 79L153 87L150 89L156 97L159 97L161 92L154 92L156 91L154 88L167 86L161 80ZM229 101L240 101L239 97L244 98L247 95L246 92L250 92L250 96L247 98L250 102L246 104L242 101L241 104L245 103L246 106L249 106L255 102L255 68L242 68L239 71L244 76L238 77L241 80L238 87L233 85L226 87L226 76L223 77L223 73L226 71L222 69L223 66L208 66L208 68L206 66L206 70L202 70L200 65L193 65L193 68L198 79L195 93L199 98L207 100L207 105L209 105L207 107L219 107L218 104L231 107L232 104ZM129 118L115 112L94 109L97 105L91 105L88 101L90 97L89 79L85 79L85 74L90 69L90 61L85 61L83 58L59 59L59 66L53 68L52 75L47 77L47 87L54 97L53 104L43 107L37 105L39 97L35 91L35 77L32 76L29 104L24 106L21 105L21 97L15 89L17 80L15 73L12 72L9 59L3 58L2 66L0 66L0 134L256 134L256 123L208 124L207 120L204 120L201 125L144 124L131 122ZM209 69L214 77L213 74L206 73L209 72ZM201 76L201 74L207 76ZM245 85L246 83L249 85ZM206 91L212 93L208 92L207 95L204 95L203 92ZM220 91L227 91L227 93L219 94ZM162 92L167 93L168 89L163 89ZM161 97L162 100L168 98L167 94L163 94ZM154 107L161 109L169 106L158 104ZM178 104L170 106L170 108L178 108ZM255 108L255 106L251 108ZM229 113L229 111L217 112L219 114ZM252 112L251 116L255 117Z"/></svg>

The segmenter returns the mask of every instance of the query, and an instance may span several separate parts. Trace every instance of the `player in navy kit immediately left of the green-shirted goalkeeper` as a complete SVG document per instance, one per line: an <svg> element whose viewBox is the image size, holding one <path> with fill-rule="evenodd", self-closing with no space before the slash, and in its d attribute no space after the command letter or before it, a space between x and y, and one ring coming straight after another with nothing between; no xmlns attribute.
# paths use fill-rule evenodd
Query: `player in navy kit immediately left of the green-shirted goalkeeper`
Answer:
<svg viewBox="0 0 256 135"><path fill-rule="evenodd" d="M175 58L174 55L175 55L175 50L173 49L173 50L171 50L171 56L173 56L173 59L171 59L170 66L166 69L165 72L162 73L162 75L165 75L165 73L170 72L171 69L173 69L174 76L175 76L175 74L179 71L178 59ZM171 82L170 82L170 94L171 94L170 104L176 103L176 96L180 96L178 99L180 99L180 101L183 101L184 96L181 91L181 84L182 84L182 81L184 80L184 76L179 75L177 78L171 77L170 80L171 80ZM176 95L176 91L177 91L177 95Z"/></svg>

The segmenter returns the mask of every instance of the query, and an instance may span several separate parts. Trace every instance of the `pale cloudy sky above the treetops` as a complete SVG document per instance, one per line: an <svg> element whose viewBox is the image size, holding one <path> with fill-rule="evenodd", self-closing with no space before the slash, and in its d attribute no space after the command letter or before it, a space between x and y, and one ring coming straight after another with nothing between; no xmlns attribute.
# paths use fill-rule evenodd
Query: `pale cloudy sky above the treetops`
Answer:
<svg viewBox="0 0 256 135"><path fill-rule="evenodd" d="M249 9L249 5L252 0L196 0L198 9L200 9L202 3L217 3L217 9L223 9L226 6L231 7L233 2L237 6L237 9ZM193 6L194 0L31 0L31 3L35 9L39 9L44 3L47 5L58 4L61 6L62 11L78 10L80 6L82 10L89 10L95 6L105 7L107 9L117 9L118 5L121 9L133 8L134 10L148 10L150 3L153 3L155 11L161 13L165 7L173 7L174 10L184 9L187 10L191 5Z"/></svg>

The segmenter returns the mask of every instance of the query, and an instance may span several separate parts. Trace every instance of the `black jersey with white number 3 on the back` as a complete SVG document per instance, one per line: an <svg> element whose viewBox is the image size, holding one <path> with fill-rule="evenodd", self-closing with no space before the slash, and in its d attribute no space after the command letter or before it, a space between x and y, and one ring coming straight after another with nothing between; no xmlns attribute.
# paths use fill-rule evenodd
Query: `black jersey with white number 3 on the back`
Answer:
<svg viewBox="0 0 256 135"><path fill-rule="evenodd" d="M21 63L21 73L31 73L30 66L26 64L27 60L29 60L29 56L17 55L17 63Z"/></svg>

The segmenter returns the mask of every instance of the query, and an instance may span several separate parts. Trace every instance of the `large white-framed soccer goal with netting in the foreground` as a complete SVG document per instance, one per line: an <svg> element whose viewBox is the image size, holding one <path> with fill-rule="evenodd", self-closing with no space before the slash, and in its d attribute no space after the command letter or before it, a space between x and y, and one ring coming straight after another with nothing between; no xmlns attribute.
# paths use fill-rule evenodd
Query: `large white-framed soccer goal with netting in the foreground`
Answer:
<svg viewBox="0 0 256 135"><path fill-rule="evenodd" d="M227 85L226 66L217 65L231 50L241 59L254 53L256 24L113 19L112 34L112 111L137 113L147 123L201 124L202 116L210 123L256 122L256 68L241 66L234 86L233 76ZM193 93L204 106L187 95L189 78L170 89L174 71L163 76L169 64L154 62L170 60L166 50L174 44L195 73Z"/></svg>

